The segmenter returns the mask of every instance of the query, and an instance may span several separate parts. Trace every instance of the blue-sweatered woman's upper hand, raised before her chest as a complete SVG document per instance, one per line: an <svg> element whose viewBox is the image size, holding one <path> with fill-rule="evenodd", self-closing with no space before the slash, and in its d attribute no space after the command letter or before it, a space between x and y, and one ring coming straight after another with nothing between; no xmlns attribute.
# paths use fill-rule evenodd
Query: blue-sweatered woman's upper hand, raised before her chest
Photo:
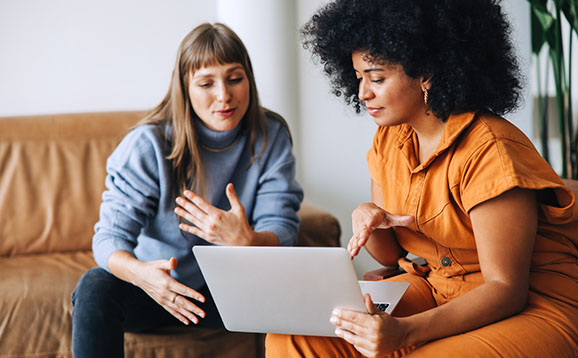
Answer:
<svg viewBox="0 0 578 358"><path fill-rule="evenodd" d="M182 223L179 228L216 245L251 245L255 232L247 221L245 208L233 184L227 184L225 193L231 203L229 211L218 209L192 191L185 190L184 197L176 199L179 207L175 208L175 213L191 225Z"/></svg>

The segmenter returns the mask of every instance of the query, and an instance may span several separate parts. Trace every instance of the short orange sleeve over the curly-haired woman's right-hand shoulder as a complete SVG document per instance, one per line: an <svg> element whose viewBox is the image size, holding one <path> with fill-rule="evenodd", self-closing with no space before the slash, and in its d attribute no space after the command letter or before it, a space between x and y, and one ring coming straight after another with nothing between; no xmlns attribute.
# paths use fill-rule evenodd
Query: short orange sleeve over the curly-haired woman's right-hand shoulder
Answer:
<svg viewBox="0 0 578 358"><path fill-rule="evenodd" d="M490 114L481 114L463 134L450 178L461 188L467 210L514 187L544 189L560 182L520 129Z"/></svg>

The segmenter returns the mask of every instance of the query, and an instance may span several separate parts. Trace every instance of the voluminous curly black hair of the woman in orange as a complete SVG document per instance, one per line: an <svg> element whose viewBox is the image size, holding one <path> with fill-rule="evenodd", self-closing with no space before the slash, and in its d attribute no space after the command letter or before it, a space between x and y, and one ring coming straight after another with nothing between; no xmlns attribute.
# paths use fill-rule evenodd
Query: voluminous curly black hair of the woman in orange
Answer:
<svg viewBox="0 0 578 358"><path fill-rule="evenodd" d="M320 60L333 92L359 113L351 55L399 64L431 78L429 109L452 113L518 107L522 77L499 0L335 0L303 26L303 47Z"/></svg>

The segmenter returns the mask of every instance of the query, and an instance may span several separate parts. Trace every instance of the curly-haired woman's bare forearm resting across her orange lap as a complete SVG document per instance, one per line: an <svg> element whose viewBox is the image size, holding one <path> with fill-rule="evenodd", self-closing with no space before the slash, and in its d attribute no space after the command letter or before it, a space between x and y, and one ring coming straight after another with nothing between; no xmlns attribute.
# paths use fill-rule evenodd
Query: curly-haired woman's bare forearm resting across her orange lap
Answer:
<svg viewBox="0 0 578 358"><path fill-rule="evenodd" d="M405 346L471 331L520 312L527 287L487 282L434 309L399 318L406 333Z"/></svg>

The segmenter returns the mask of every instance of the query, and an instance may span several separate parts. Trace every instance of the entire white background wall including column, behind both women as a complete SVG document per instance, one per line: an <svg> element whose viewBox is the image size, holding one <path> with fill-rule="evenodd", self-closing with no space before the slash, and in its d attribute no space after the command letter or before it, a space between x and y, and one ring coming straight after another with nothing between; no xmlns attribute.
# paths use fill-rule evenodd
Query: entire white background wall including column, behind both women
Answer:
<svg viewBox="0 0 578 358"><path fill-rule="evenodd" d="M370 200L365 154L375 124L330 93L320 66L297 42L325 0L0 0L0 116L148 109L165 94L182 37L224 21L251 55L261 100L295 136L306 196L351 236L351 211ZM506 0L529 65L526 1ZM510 119L531 136L526 107ZM362 253L359 273L377 267Z"/></svg>

